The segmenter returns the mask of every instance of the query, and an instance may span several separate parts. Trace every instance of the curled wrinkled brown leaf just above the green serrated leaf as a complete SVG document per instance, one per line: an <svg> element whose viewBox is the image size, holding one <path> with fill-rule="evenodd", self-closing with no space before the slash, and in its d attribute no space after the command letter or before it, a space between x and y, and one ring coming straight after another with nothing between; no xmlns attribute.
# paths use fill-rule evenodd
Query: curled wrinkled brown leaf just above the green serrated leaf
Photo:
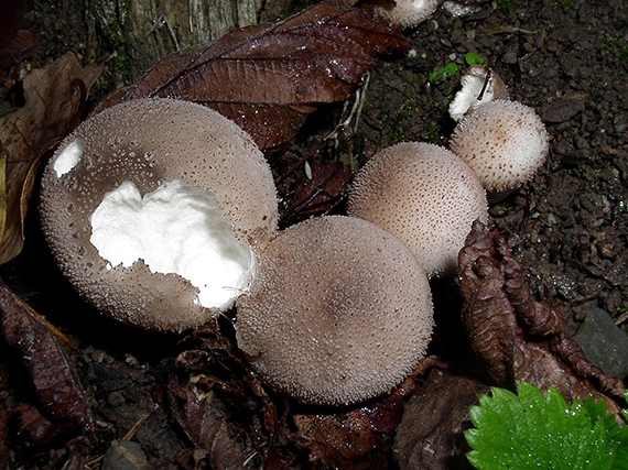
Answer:
<svg viewBox="0 0 628 470"><path fill-rule="evenodd" d="M604 397L618 409L624 383L586 359L555 307L533 298L501 232L475 222L458 262L463 318L499 385L513 387L524 380L540 389L553 386L567 401Z"/></svg>

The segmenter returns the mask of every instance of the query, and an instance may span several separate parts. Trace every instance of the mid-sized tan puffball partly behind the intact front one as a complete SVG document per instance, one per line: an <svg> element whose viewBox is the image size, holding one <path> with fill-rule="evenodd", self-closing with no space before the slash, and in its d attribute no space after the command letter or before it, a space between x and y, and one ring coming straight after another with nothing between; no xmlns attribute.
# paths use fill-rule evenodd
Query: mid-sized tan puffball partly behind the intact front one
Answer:
<svg viewBox="0 0 628 470"><path fill-rule="evenodd" d="M474 220L486 221L486 192L454 153L404 142L372 156L349 190L350 216L399 238L430 277L456 273Z"/></svg>

